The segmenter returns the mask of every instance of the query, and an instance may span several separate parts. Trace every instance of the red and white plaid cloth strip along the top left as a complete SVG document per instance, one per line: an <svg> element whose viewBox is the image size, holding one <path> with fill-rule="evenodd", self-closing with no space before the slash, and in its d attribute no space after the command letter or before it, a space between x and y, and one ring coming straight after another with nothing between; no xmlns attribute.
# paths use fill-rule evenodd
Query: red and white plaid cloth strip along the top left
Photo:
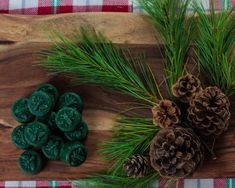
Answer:
<svg viewBox="0 0 235 188"><path fill-rule="evenodd" d="M132 12L131 0L0 0L0 13Z"/></svg>

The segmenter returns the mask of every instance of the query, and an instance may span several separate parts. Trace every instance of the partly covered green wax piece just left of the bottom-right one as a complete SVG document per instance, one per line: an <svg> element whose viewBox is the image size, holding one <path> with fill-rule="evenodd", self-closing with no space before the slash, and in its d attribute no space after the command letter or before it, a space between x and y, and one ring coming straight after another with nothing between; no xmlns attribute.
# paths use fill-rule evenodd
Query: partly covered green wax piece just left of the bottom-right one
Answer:
<svg viewBox="0 0 235 188"><path fill-rule="evenodd" d="M42 152L50 160L59 160L63 144L64 140L62 138L52 135L48 142L42 146Z"/></svg>

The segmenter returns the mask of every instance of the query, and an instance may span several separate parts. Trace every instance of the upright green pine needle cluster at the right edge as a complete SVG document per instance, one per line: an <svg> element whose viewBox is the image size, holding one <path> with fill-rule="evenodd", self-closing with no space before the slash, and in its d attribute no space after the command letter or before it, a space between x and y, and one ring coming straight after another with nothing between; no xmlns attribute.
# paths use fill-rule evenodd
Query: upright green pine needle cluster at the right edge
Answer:
<svg viewBox="0 0 235 188"><path fill-rule="evenodd" d="M235 94L235 14L233 11L210 14L202 5L194 4L197 12L198 36L195 53L203 75L211 85L227 95Z"/></svg>

